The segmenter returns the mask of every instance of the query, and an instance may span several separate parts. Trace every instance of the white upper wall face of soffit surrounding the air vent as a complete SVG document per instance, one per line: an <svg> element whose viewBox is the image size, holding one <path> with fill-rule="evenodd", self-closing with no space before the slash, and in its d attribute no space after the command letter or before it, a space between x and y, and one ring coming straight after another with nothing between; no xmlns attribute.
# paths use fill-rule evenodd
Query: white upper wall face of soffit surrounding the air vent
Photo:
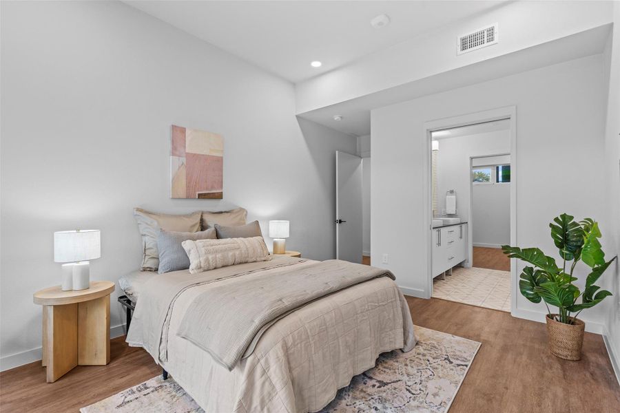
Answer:
<svg viewBox="0 0 620 413"><path fill-rule="evenodd" d="M298 114L455 70L612 21L612 1L513 1L296 84ZM499 24L499 43L456 54L457 36ZM389 28L387 28L389 30Z"/></svg>

